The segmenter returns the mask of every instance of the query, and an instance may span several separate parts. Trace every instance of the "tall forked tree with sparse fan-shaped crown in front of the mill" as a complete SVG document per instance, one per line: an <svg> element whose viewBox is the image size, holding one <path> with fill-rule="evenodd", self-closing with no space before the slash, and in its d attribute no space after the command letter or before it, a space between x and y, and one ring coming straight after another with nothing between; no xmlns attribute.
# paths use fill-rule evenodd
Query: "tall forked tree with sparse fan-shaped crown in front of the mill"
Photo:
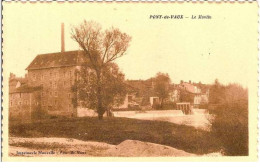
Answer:
<svg viewBox="0 0 260 168"><path fill-rule="evenodd" d="M93 96L94 109L96 109L99 119L102 119L107 109L105 101L107 97L104 97L107 94L102 85L103 80L108 79L111 63L125 55L131 37L114 27L102 31L100 24L86 20L72 28L71 37L83 50L84 56L89 60L90 68L94 72L93 81L96 82L93 88L95 89L93 92L95 94Z"/></svg>

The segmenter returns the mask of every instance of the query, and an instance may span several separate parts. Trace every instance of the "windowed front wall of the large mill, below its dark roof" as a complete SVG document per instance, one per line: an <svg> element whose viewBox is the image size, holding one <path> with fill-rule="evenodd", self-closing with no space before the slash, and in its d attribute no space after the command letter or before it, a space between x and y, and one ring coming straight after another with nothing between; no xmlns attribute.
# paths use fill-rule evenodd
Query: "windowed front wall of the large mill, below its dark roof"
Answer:
<svg viewBox="0 0 260 168"><path fill-rule="evenodd" d="M76 66L28 71L29 86L42 86L41 106L52 115L75 116L73 92Z"/></svg>

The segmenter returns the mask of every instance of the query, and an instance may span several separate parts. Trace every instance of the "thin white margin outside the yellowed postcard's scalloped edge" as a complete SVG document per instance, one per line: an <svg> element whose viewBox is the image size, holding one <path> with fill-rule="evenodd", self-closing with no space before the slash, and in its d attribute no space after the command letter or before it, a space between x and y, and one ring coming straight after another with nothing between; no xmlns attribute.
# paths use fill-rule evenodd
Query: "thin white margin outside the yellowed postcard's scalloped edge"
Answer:
<svg viewBox="0 0 260 168"><path fill-rule="evenodd" d="M12 0L6 0L6 1L12 1ZM21 0L21 1L27 1L27 0ZM37 0L30 0L31 2L36 2ZM52 0L38 0L38 1L52 1ZM60 2L63 2L64 0L58 0ZM73 0L68 0L68 1L73 1ZM87 1L87 0L74 0L74 1ZM89 1L94 1L94 0L89 0ZM100 0L97 0L100 1ZM104 0L104 1L113 1L113 0ZM115 0L115 1L123 1L123 0ZM128 2L131 2L131 0L125 0ZM138 1L138 0L132 0L132 1ZM141 2L144 2L145 0L140 0ZM148 2L151 2L152 0L147 0ZM157 0L156 0L157 1ZM162 0L162 1L167 1L167 0ZM175 0L169 0L170 2L174 2ZM176 1L184 1L184 0L176 0ZM196 0L190 0L190 1L196 1ZM203 0L199 0L199 1L203 1ZM208 0L208 1L216 1L216 2L220 2L221 0ZM224 0L224 1L231 1L234 2L236 0ZM237 0L240 2L244 2L245 0ZM253 0L248 0L249 2L252 2ZM259 3L259 2L258 2ZM0 10L1 10L2 6L0 6ZM258 10L258 15L260 16L260 11ZM260 23L260 19L258 17L258 23ZM2 22L1 22L2 25ZM260 25L258 24L258 32L260 32ZM259 33L258 33L258 39L260 39ZM2 43L0 41L0 44L2 46ZM258 49L260 49L260 44L258 43ZM260 72L260 66L259 66L259 59L260 59L260 54L258 52L258 72ZM0 63L2 65L2 60L0 60ZM2 74L2 70L0 69L0 73ZM260 81L260 74L258 74L258 81ZM1 81L1 85L2 85L2 81ZM259 86L258 86L259 87ZM0 93L1 96L1 93ZM260 89L258 89L258 96L260 96ZM259 98L258 98L258 102L259 102ZM260 105L258 105L258 111L260 109ZM260 118L260 114L258 113L258 119ZM260 128L260 123L258 122L258 129ZM1 129L1 126L0 126ZM259 132L259 131L258 131ZM258 133L258 142L260 140L260 136ZM1 142L1 140L0 140ZM258 143L258 151L260 151L260 145ZM0 154L1 155L1 154ZM199 159L199 158L198 158ZM242 161L242 160L241 160ZM3 168L28 168L28 167L39 167L39 168L46 168L46 167L91 167L91 168L96 168L96 167L102 167L102 168L117 168L117 167L124 167L124 168L133 168L133 167L150 167L150 168L154 168L154 167L163 167L163 168L168 168L168 167L193 167L193 168L204 168L204 167L212 167L212 168L219 168L219 167L259 167L260 165L260 161L259 161L259 152L258 152L258 162L159 162L159 163L146 163L146 162L119 162L119 163L115 163L115 162L80 162L80 163L74 163L74 162L67 162L67 163L62 163L62 162L30 162L30 163L26 163L26 162L8 162L8 163L0 163L0 167Z"/></svg>

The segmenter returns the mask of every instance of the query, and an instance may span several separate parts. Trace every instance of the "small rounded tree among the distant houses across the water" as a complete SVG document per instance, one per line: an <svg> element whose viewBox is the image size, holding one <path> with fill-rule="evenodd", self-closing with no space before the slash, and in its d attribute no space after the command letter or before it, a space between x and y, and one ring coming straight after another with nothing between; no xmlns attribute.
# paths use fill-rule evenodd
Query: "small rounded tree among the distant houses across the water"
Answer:
<svg viewBox="0 0 260 168"><path fill-rule="evenodd" d="M157 73L154 79L154 90L156 95L160 99L160 106L163 107L163 103L166 98L169 97L169 89L171 79L167 73Z"/></svg>

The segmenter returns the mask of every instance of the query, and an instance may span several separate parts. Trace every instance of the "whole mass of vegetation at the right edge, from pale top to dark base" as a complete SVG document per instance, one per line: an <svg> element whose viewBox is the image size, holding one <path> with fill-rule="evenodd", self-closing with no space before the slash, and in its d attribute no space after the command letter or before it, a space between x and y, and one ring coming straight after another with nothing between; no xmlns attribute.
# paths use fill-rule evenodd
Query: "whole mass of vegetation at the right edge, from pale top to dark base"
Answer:
<svg viewBox="0 0 260 168"><path fill-rule="evenodd" d="M210 112L215 115L212 133L219 137L225 155L248 155L248 91L237 84L210 89Z"/></svg>

